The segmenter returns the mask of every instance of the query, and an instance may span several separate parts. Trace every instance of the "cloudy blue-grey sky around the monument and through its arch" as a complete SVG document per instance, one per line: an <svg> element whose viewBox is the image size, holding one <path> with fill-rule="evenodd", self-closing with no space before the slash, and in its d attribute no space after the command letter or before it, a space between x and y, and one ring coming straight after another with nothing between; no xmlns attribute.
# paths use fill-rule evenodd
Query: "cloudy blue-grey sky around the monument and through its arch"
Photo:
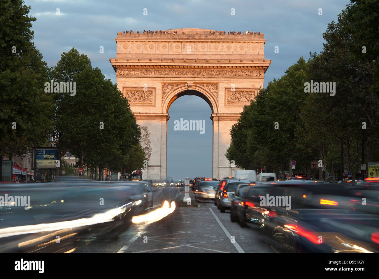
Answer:
<svg viewBox="0 0 379 279"><path fill-rule="evenodd" d="M89 1L25 0L36 17L34 43L50 66L62 52L75 47L86 54L93 67L116 82L109 59L116 57L117 32L205 28L211 30L259 31L265 34L265 57L272 63L264 86L281 77L299 57L320 52L322 33L348 0L165 0ZM143 15L144 8L147 16ZM230 9L235 9L231 16ZM322 9L320 16L319 8ZM57 15L59 9L60 15ZM99 53L99 47L104 53ZM274 53L274 47L279 53ZM178 98L170 107L168 122L167 175L174 179L212 175L212 122L208 104L196 96ZM174 131L174 120L205 120L205 133Z"/></svg>

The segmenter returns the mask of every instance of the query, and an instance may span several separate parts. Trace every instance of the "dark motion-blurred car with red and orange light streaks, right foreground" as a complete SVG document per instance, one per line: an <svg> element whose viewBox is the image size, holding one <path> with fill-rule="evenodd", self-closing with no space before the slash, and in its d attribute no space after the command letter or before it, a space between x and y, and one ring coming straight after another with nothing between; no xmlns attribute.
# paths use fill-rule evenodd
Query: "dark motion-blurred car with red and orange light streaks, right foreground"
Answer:
<svg viewBox="0 0 379 279"><path fill-rule="evenodd" d="M287 183L251 187L243 199L248 203L246 217L282 248L295 252L379 251L379 216L356 210L350 186L283 182ZM291 197L290 207L261 203L262 196L279 197L277 201Z"/></svg>

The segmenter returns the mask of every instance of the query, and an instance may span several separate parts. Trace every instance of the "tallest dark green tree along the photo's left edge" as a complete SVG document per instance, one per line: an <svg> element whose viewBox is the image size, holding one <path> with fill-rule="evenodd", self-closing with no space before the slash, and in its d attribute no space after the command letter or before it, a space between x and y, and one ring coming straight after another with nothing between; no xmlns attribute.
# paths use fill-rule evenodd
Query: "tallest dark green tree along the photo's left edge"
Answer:
<svg viewBox="0 0 379 279"><path fill-rule="evenodd" d="M0 3L0 156L30 151L34 136L43 142L52 121L52 96L43 84L50 70L31 42L36 19L22 4Z"/></svg>

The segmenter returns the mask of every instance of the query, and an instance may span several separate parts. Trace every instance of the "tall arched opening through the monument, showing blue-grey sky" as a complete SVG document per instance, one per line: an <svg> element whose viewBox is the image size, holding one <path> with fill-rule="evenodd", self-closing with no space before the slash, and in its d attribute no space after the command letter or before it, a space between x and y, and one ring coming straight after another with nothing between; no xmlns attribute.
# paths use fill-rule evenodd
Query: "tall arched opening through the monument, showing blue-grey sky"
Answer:
<svg viewBox="0 0 379 279"><path fill-rule="evenodd" d="M171 106L171 104L173 105ZM205 98L196 94L185 94L185 92L175 96L175 100L172 100L171 104L168 110L170 118L167 122L167 176L174 180L183 180L186 176L191 179L198 176L212 177L213 121L210 119L211 106ZM190 128L190 121L204 124L199 127L199 130L186 130L182 129L182 127L184 128L182 123L185 121L189 121ZM194 126L192 125L192 127Z"/></svg>

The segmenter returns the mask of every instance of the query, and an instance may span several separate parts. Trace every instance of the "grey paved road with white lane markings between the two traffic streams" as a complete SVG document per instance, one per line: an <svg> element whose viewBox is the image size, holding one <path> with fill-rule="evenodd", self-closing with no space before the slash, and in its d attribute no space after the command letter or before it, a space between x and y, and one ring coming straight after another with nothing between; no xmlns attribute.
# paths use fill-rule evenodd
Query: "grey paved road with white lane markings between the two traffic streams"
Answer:
<svg viewBox="0 0 379 279"><path fill-rule="evenodd" d="M180 188L184 197L184 189ZM191 194L194 201L194 196ZM155 204L157 201L154 202ZM177 207L168 217L133 224L115 239L83 239L75 253L273 253L273 240L255 224L240 227L213 201Z"/></svg>

